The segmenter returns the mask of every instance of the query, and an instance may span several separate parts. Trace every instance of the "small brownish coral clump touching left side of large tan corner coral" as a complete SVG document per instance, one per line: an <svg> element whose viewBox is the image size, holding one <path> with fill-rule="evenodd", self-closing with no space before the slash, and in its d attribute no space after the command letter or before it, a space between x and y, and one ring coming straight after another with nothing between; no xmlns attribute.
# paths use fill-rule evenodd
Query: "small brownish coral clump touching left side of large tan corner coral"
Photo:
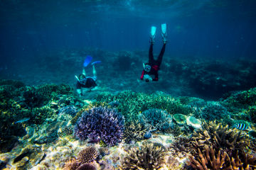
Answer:
<svg viewBox="0 0 256 170"><path fill-rule="evenodd" d="M191 152L191 139L187 137L177 137L168 149L174 157L186 157L188 153Z"/></svg>

